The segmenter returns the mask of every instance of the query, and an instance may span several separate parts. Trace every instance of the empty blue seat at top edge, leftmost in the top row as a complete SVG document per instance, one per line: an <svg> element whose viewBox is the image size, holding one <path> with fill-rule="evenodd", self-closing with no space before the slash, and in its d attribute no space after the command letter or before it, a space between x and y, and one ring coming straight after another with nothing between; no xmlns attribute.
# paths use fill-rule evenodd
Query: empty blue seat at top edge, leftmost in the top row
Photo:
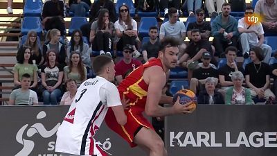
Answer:
<svg viewBox="0 0 277 156"><path fill-rule="evenodd" d="M25 1L24 17L40 17L42 15L42 0Z"/></svg>

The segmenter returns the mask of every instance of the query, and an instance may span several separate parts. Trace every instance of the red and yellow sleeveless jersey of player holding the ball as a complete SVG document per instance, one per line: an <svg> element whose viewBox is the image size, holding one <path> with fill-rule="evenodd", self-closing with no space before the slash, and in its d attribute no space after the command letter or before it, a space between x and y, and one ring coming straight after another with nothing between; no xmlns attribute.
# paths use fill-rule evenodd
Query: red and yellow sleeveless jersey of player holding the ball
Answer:
<svg viewBox="0 0 277 156"><path fill-rule="evenodd" d="M143 80L143 72L146 68L152 66L160 66L161 60L155 58L145 64L142 64L140 67L134 69L129 76L125 78L120 85L118 85L118 91L120 96L125 95L126 99L129 99L130 106L136 108L136 110L144 111L146 96L148 92L148 84Z"/></svg>

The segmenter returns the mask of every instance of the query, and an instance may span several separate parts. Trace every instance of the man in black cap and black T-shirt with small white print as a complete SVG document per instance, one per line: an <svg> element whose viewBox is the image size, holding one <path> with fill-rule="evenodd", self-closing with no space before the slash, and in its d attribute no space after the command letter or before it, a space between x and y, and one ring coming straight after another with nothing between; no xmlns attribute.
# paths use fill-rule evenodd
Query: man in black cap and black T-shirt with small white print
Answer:
<svg viewBox="0 0 277 156"><path fill-rule="evenodd" d="M215 65L211 64L212 55L206 51L202 53L202 64L199 64L199 68L193 71L193 78L190 80L190 90L197 94L197 89L202 90L206 78L213 77L215 85L218 83L218 71Z"/></svg>

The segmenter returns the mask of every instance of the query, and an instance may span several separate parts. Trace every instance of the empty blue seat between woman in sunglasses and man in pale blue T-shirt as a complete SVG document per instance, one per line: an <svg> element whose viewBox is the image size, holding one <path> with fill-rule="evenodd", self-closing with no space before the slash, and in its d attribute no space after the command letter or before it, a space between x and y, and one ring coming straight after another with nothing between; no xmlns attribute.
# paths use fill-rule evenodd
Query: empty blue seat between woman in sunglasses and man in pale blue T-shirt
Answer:
<svg viewBox="0 0 277 156"><path fill-rule="evenodd" d="M156 17L141 17L139 24L139 35L143 37L148 37L149 28L151 26L158 26L158 21Z"/></svg>

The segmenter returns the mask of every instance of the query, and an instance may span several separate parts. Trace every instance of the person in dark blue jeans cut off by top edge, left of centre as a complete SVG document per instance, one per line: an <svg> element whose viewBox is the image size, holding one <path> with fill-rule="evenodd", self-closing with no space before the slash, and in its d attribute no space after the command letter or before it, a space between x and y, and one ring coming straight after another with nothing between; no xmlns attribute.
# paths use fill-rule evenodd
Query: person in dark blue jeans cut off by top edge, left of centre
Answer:
<svg viewBox="0 0 277 156"><path fill-rule="evenodd" d="M81 0L69 0L69 8L78 17L86 17L89 12L89 5Z"/></svg>

